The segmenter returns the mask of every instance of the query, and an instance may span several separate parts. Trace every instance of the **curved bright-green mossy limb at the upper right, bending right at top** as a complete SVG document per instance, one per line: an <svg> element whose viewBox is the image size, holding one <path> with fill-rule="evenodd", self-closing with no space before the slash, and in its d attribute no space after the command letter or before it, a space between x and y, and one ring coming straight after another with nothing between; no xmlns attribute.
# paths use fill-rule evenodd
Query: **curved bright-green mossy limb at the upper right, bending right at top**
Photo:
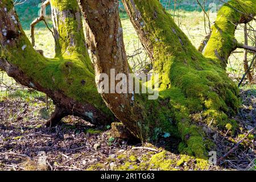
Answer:
<svg viewBox="0 0 256 182"><path fill-rule="evenodd" d="M237 46L234 37L236 24L245 16L239 11L254 16L256 12L255 0L229 1L228 4L225 4L220 11L218 11L217 19L212 27L212 35L205 48L204 55L221 63L224 68L226 67L230 53L236 49Z"/></svg>

